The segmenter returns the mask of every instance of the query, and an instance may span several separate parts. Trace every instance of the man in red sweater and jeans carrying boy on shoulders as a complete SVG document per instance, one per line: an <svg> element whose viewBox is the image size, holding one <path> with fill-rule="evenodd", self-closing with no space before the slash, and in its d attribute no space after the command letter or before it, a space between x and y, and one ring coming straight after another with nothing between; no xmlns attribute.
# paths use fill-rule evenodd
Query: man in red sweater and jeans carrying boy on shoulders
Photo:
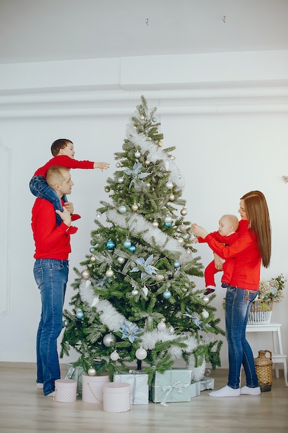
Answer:
<svg viewBox="0 0 288 433"><path fill-rule="evenodd" d="M46 181L59 199L70 194L74 185L66 167L50 167ZM70 234L73 203L66 202L63 212L46 199L36 199L32 208L32 232L35 241L34 277L41 295L41 317L37 331L37 387L53 396L55 380L60 378L57 338L62 329L62 309L68 281ZM56 213L61 224L56 224Z"/></svg>

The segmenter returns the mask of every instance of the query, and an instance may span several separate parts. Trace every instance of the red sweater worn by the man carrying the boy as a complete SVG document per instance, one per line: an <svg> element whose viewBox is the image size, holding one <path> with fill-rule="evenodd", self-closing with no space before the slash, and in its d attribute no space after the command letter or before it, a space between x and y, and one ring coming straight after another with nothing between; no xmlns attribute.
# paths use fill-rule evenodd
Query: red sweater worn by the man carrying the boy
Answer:
<svg viewBox="0 0 288 433"><path fill-rule="evenodd" d="M75 228L68 227L63 222L57 227L55 209L50 201L35 200L31 226L35 241L35 259L68 260L71 252L69 233L75 232Z"/></svg>

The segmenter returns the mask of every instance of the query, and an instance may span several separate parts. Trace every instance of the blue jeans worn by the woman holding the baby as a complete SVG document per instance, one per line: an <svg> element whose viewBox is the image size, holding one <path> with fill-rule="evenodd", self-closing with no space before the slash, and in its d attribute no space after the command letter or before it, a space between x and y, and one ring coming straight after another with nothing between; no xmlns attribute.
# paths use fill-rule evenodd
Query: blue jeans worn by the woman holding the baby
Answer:
<svg viewBox="0 0 288 433"><path fill-rule="evenodd" d="M246 340L246 325L248 322L251 302L255 300L258 291L228 286L225 298L226 337L228 342L229 376L228 386L238 389L240 386L241 365L246 375L246 385L258 387L253 352Z"/></svg>

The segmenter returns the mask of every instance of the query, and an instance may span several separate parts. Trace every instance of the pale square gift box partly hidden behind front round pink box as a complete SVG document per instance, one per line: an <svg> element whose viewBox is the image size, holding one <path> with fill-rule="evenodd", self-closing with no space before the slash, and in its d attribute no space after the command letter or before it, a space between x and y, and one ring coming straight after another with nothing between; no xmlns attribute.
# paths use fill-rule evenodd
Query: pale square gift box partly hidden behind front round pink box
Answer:
<svg viewBox="0 0 288 433"><path fill-rule="evenodd" d="M148 405L148 374L141 370L115 373L113 382L129 383L133 405Z"/></svg>

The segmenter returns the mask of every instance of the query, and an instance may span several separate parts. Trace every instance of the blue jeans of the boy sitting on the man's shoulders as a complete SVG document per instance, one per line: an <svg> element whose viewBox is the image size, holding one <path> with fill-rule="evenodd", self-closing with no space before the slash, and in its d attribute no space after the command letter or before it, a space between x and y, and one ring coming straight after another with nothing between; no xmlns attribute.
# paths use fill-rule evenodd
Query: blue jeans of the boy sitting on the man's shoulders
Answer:
<svg viewBox="0 0 288 433"><path fill-rule="evenodd" d="M30 191L34 196L39 197L39 199L46 199L50 201L50 203L52 203L52 205L54 206L55 210L61 210L61 212L63 212L61 200L59 199L53 188L48 185L44 176L33 176L29 183L29 187ZM67 201L66 196L63 196L62 200ZM60 225L62 222L61 216L59 216L58 214L55 215L56 223L57 225Z"/></svg>

